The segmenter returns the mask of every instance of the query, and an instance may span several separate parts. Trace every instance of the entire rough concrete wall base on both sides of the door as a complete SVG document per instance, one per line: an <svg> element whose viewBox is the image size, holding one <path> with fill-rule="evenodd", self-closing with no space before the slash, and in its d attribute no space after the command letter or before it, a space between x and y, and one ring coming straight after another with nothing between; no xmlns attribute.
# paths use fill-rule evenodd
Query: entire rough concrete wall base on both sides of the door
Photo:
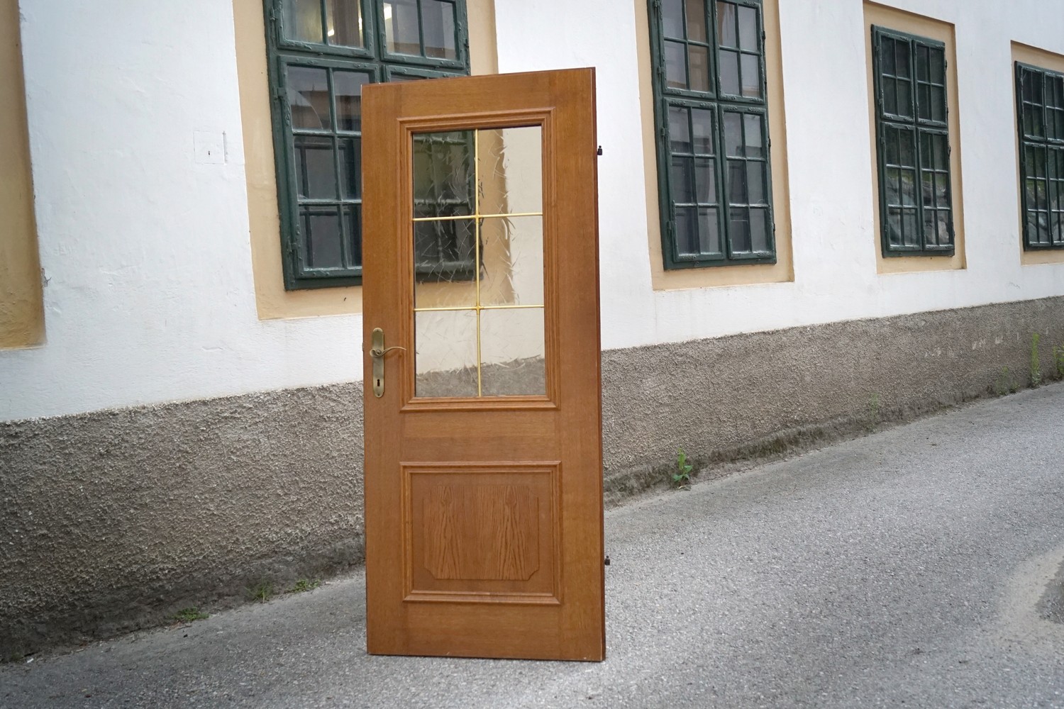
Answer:
<svg viewBox="0 0 1064 709"><path fill-rule="evenodd" d="M608 497L1025 386L1034 333L1064 298L606 352ZM0 424L0 658L359 563L361 390Z"/></svg>

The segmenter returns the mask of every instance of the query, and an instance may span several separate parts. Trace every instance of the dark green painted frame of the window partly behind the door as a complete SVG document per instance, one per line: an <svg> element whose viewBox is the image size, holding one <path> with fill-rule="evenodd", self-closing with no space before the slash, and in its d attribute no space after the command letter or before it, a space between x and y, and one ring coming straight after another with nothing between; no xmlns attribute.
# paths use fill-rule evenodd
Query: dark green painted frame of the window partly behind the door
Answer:
<svg viewBox="0 0 1064 709"><path fill-rule="evenodd" d="M340 141L356 139L361 146L361 123L358 130L340 131L335 119L336 98L332 92L332 70L364 72L369 77L367 83L404 81L415 79L434 79L443 77L463 77L469 74L469 38L468 20L465 0L443 0L454 7L455 57L443 58L428 56L425 50L423 15L420 9L428 0L409 0L406 4L416 2L418 10L418 44L419 55L402 54L387 51L385 29L385 5L393 5L390 0L347 0L356 3L361 10L363 47L346 47L329 44L328 7L334 0L318 0L322 18L322 43L296 41L287 37L285 32L285 7L295 0L263 0L266 18L266 52L267 73L270 85L270 114L273 130L273 151L277 167L278 210L280 214L281 254L285 290L301 290L309 288L331 288L354 286L362 284L361 259L361 170L355 181L355 196L344 197L340 185L344 184L344 171L340 165L343 150ZM313 2L314 0L301 0ZM344 1L344 0L337 0ZM390 9L390 7L389 7ZM289 105L286 86L287 67L306 66L330 71L330 131L294 130L292 107ZM296 158L296 138L298 135L313 136L320 134L322 140L336 141L333 149L335 176L337 181L337 199L310 200L300 199L297 179L298 166ZM356 164L361 168L361 158ZM343 230L340 253L344 264L338 267L313 268L307 256L306 239L300 225L301 209L314 206L331 209L338 205L343 214L352 210L354 217L350 223L340 217ZM358 220L359 223L355 223ZM358 233L355 234L355 230Z"/></svg>

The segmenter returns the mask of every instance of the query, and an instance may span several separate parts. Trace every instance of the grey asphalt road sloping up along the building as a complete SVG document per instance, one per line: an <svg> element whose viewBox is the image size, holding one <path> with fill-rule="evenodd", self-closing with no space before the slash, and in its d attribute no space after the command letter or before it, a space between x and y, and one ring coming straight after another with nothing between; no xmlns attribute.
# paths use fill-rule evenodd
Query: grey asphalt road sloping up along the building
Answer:
<svg viewBox="0 0 1064 709"><path fill-rule="evenodd" d="M1044 387L612 510L600 664L368 657L354 574L0 665L0 706L1064 707L1062 426Z"/></svg>

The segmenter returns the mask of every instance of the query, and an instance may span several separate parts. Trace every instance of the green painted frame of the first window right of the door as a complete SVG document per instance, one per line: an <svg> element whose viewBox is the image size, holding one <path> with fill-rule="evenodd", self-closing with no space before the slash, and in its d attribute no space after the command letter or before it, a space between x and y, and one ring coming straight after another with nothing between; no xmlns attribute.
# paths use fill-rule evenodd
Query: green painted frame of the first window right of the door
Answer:
<svg viewBox="0 0 1064 709"><path fill-rule="evenodd" d="M665 4L677 5L681 10L683 37L678 37L675 33L669 34L665 28ZM694 12L687 14L688 6L702 6L704 13L703 28L704 37L692 38L692 18L698 17ZM734 28L733 43L724 44L721 24L719 22L719 12L722 5L733 5L736 10L736 24ZM738 24L739 7L748 7L755 14L755 29L753 40L757 45L754 49L744 46L744 40L739 39L742 29ZM771 139L768 129L768 84L766 80L765 67L765 31L764 31L764 7L761 0L698 0L685 2L684 0L648 0L647 9L649 13L652 83L654 100L654 136L656 142L658 156L658 196L661 215L661 237L662 257L666 270L686 268L706 268L714 266L734 266L739 264L775 264L776 263L776 224L772 207L772 176L771 176ZM683 79L686 87L670 86L667 77L666 46L670 50L677 49L679 45L683 48ZM704 73L706 83L702 87L692 88L691 57L692 49L704 57ZM757 67L759 80L757 88L759 96L743 96L742 73L736 73L738 78L738 91L726 91L725 79L721 71L722 55L734 55L735 67L738 72L744 72L748 67ZM743 57L755 57L750 64L743 61ZM674 150L674 138L670 135L675 126L670 124L670 116L678 115L678 111L687 112L687 141L691 152ZM699 153L696 148L696 131L693 111L704 112L702 115L709 118L711 126L709 133L710 140L704 142L711 152ZM742 154L729 153L726 146L726 125L728 116L738 115L743 137L739 145ZM760 155L748 154L754 144L749 140L749 125L752 118L758 124L758 140L760 141ZM703 124L704 125L704 124ZM704 129L703 129L704 130ZM679 133L679 130L675 132ZM703 133L703 136L705 133ZM712 154L711 154L712 153ZM681 165L689 164L689 169L675 169L675 162L679 159ZM712 175L708 182L713 187L706 190L704 200L699 198L699 179L697 164L701 161L704 165L712 162L710 170L704 171L704 176ZM688 163L689 162L689 163ZM744 167L743 184L731 169L733 165L742 164ZM751 200L751 185L754 178L751 178L750 166L755 164L757 181L761 183L761 198L758 202ZM685 174L686 176L681 176ZM704 178L703 178L704 179ZM681 184L686 183L686 185ZM739 190L739 191L735 191ZM686 191L693 201L678 202ZM736 196L732 200L732 196ZM739 197L745 197L739 199ZM713 201L710 201L712 198ZM695 251L695 244L691 243L687 250L681 249L678 238L678 217L686 214L689 220L694 214L697 220L695 232L696 238L701 239L705 229L713 229L715 223L717 236L716 251L705 251L699 249ZM704 221L702 215L705 215ZM752 236L751 224L754 215L759 221L764 223L764 247L755 248ZM745 217L745 221L744 221ZM734 219L733 219L734 218ZM738 225L745 224L745 239L749 242L749 249L742 249L739 244L744 240ZM689 226L688 226L689 229Z"/></svg>

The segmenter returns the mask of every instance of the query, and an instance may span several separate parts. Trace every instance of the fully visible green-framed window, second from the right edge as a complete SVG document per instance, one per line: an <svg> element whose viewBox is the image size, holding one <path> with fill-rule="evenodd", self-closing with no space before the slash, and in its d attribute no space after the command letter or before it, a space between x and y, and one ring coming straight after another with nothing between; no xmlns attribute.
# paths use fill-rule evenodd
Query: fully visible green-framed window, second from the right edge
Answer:
<svg viewBox="0 0 1064 709"><path fill-rule="evenodd" d="M872 28L883 255L952 255L946 47Z"/></svg>

